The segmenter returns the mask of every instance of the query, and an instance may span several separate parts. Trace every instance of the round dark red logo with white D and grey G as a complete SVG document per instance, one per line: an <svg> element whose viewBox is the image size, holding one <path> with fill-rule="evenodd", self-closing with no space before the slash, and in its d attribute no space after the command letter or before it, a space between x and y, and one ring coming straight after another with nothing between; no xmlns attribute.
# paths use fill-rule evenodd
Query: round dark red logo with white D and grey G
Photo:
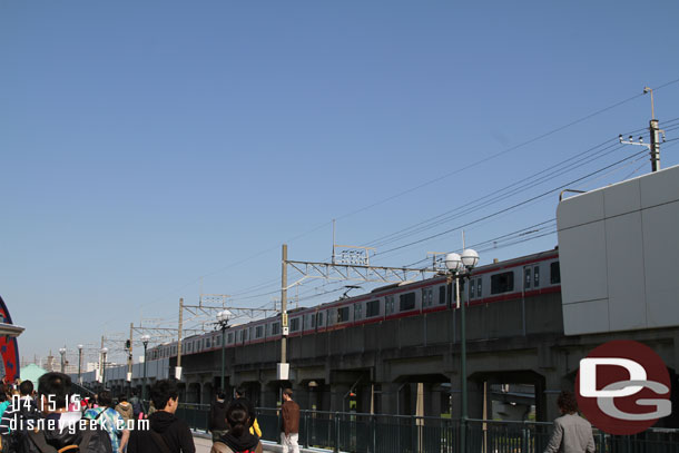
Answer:
<svg viewBox="0 0 679 453"><path fill-rule="evenodd" d="M632 341L604 343L581 360L575 390L584 416L610 434L640 433L672 412L665 363Z"/></svg>

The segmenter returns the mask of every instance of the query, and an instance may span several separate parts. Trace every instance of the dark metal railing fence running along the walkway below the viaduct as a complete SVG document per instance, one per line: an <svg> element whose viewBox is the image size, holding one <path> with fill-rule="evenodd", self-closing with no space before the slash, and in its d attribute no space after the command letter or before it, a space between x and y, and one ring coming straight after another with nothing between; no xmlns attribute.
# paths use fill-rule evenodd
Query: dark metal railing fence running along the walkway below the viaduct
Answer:
<svg viewBox="0 0 679 453"><path fill-rule="evenodd" d="M177 416L207 430L209 406L180 404ZM262 439L278 442L277 408L258 408ZM551 423L469 420L466 451L473 453L542 453ZM459 453L460 421L407 415L301 411L299 444L356 453ZM648 430L634 436L612 436L594 430L597 452L679 453L678 430Z"/></svg>

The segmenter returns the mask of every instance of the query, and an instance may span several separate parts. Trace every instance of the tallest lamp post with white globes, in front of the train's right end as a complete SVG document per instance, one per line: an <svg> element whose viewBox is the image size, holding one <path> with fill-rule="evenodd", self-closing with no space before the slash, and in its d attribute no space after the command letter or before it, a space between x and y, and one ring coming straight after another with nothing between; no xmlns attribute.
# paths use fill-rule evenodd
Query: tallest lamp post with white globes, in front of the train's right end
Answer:
<svg viewBox="0 0 679 453"><path fill-rule="evenodd" d="M471 248L462 255L452 253L445 255L445 267L455 278L455 299L460 305L460 381L462 387L462 414L460 415L460 451L466 451L466 322L464 303L460 303L460 278L469 278L472 269L479 263L479 254Z"/></svg>

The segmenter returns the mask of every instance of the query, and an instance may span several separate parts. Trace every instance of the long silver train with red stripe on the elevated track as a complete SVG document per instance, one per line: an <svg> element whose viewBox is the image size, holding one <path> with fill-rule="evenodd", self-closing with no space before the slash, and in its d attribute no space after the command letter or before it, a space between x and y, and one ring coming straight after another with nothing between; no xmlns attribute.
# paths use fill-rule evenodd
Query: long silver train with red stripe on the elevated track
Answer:
<svg viewBox="0 0 679 453"><path fill-rule="evenodd" d="M455 296L450 294L447 282L447 275L441 273L420 282L382 286L354 297L292 309L288 312L288 337L455 309ZM468 306L559 292L558 248L479 266L461 284L461 299ZM186 337L181 355L220 349L222 336L222 331L215 331ZM229 326L224 336L227 348L278 341L282 337L281 315ZM148 351L150 361L176 356L177 342Z"/></svg>

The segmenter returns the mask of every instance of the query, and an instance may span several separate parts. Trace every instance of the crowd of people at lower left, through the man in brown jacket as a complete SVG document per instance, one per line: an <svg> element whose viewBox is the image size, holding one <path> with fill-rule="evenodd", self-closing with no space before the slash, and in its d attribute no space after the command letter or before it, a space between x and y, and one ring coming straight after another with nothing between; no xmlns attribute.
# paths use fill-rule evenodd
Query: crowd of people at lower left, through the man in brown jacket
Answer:
<svg viewBox="0 0 679 453"><path fill-rule="evenodd" d="M177 383L156 382L145 412L136 395L114 397L101 391L80 398L71 378L47 373L31 381L0 383L0 453L195 453L194 435L175 413ZM298 453L299 406L283 392L281 439L285 453ZM254 404L243 388L226 401L218 392L209 413L211 453L262 453L262 431Z"/></svg>

